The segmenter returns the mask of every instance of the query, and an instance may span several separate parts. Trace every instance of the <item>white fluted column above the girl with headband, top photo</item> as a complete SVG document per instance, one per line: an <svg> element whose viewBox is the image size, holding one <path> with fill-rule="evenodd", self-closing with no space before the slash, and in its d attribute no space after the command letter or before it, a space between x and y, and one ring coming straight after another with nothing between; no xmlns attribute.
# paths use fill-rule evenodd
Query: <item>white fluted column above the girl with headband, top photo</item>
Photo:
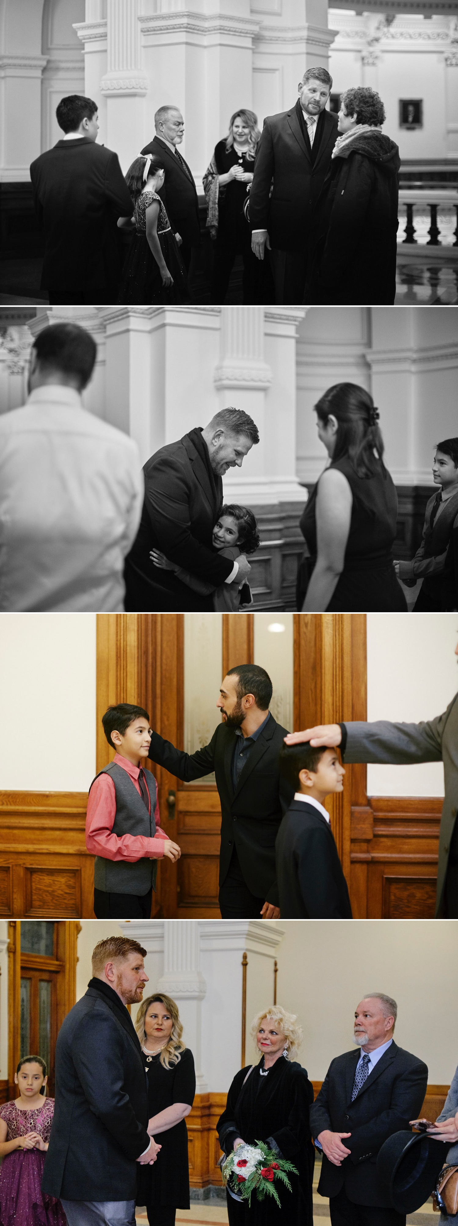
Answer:
<svg viewBox="0 0 458 1226"><path fill-rule="evenodd" d="M116 151L124 173L145 143L148 77L141 66L140 0L107 0L107 72L100 91L107 99L107 145Z"/></svg>

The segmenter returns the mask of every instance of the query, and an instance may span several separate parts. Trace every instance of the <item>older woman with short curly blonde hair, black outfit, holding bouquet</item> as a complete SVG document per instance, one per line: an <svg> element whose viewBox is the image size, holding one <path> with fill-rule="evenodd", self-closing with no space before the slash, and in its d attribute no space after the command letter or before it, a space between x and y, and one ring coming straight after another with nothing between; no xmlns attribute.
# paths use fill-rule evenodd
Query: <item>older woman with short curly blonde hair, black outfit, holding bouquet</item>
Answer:
<svg viewBox="0 0 458 1226"><path fill-rule="evenodd" d="M273 1198L235 1200L227 1190L229 1226L312 1226L312 1181L315 1150L309 1112L313 1087L306 1070L291 1057L302 1040L294 1014L278 1005L258 1014L251 1034L261 1052L258 1064L236 1073L229 1089L225 1111L217 1132L224 1154L240 1143L265 1141L279 1157L294 1162L298 1175L289 1175L291 1192L277 1182L282 1208Z"/></svg>

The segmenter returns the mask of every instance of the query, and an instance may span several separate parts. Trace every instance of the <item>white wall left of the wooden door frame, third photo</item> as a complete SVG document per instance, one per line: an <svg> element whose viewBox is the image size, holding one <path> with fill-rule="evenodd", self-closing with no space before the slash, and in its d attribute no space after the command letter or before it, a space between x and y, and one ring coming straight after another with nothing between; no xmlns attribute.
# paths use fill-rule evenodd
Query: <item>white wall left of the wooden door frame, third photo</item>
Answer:
<svg viewBox="0 0 458 1226"><path fill-rule="evenodd" d="M96 614L0 618L0 788L86 791L96 774Z"/></svg>

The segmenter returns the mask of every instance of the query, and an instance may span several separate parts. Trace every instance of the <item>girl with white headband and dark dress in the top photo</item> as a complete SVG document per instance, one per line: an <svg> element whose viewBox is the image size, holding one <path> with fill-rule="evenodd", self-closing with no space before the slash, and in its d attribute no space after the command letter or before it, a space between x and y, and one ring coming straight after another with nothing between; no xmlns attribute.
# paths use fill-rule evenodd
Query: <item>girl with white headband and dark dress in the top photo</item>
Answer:
<svg viewBox="0 0 458 1226"><path fill-rule="evenodd" d="M152 305L191 302L180 248L158 196L164 179L160 157L152 157L151 153L136 157L129 167L126 184L133 200L136 233L122 268L119 303ZM130 224L129 217L118 221L120 228Z"/></svg>

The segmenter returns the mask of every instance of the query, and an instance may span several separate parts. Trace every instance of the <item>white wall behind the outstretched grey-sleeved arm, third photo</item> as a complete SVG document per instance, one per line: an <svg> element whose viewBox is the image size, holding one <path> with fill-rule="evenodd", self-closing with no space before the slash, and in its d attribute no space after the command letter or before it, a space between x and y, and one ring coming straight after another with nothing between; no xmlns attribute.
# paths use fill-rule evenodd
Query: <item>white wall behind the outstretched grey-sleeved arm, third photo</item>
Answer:
<svg viewBox="0 0 458 1226"><path fill-rule="evenodd" d="M456 613L367 614L367 720L418 723L458 688ZM443 796L442 763L367 766L370 796Z"/></svg>

